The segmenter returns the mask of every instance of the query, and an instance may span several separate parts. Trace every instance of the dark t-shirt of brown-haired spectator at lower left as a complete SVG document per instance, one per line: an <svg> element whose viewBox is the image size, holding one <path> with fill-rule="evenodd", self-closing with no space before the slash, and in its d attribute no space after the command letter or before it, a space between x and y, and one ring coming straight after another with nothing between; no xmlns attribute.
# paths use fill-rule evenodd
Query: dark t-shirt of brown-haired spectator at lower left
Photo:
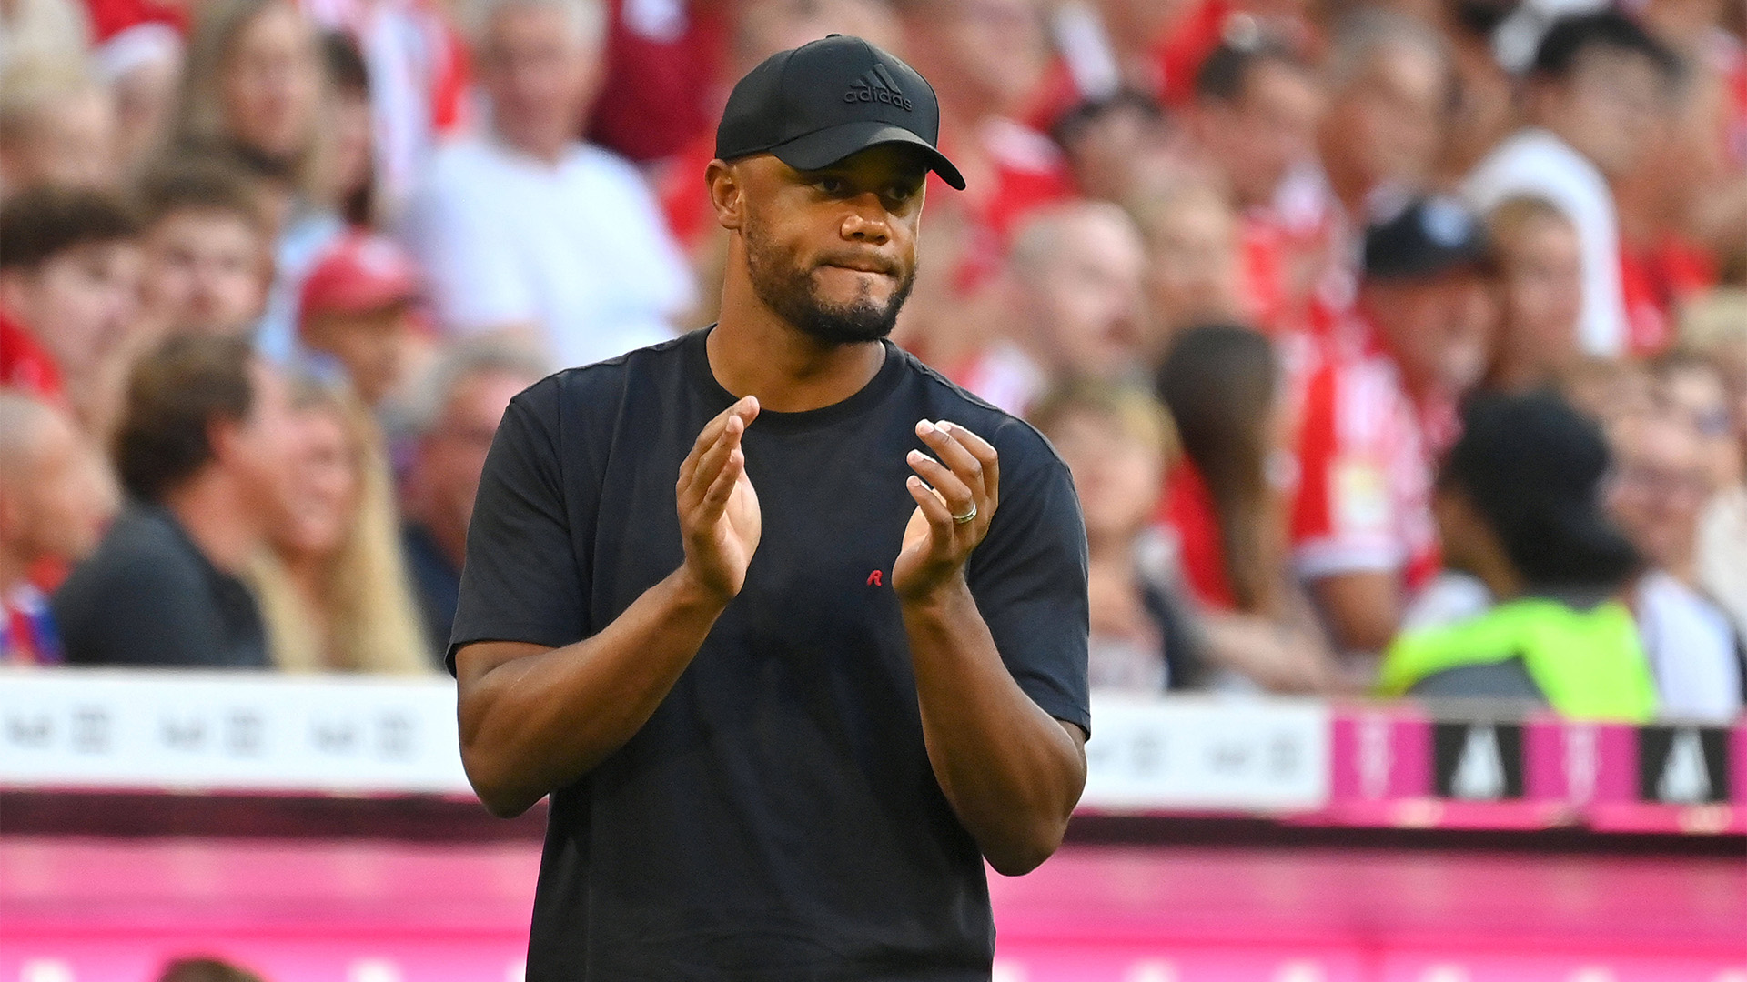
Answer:
<svg viewBox="0 0 1747 982"><path fill-rule="evenodd" d="M267 667L255 596L168 508L129 505L54 594L68 664Z"/></svg>

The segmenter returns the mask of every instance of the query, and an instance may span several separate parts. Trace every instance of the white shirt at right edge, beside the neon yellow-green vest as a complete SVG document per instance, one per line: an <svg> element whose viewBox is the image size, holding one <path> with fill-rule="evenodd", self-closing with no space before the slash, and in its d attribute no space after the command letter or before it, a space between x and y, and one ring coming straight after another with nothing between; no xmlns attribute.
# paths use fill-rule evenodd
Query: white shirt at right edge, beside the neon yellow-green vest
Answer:
<svg viewBox="0 0 1747 982"><path fill-rule="evenodd" d="M1660 570L1639 580L1632 599L1661 715L1733 720L1742 709L1742 678L1735 629L1723 612Z"/></svg>

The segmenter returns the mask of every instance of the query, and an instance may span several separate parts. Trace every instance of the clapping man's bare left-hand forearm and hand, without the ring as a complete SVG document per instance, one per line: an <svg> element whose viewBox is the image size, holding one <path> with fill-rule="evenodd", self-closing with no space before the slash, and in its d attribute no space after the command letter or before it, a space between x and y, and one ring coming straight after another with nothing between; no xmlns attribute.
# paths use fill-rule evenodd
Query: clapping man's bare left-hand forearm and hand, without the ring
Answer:
<svg viewBox="0 0 1747 982"><path fill-rule="evenodd" d="M493 814L528 811L624 746L744 585L762 526L741 435L756 414L744 398L699 433L676 486L685 563L603 631L456 652L461 764Z"/></svg>

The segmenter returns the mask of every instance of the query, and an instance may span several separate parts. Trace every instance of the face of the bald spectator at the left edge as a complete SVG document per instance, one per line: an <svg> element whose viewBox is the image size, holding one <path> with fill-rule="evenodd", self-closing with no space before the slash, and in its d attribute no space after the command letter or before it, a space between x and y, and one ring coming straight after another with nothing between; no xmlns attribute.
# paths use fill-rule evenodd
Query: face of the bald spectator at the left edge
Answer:
<svg viewBox="0 0 1747 982"><path fill-rule="evenodd" d="M0 475L0 540L28 563L96 549L115 493L96 453L59 414L44 419L23 474Z"/></svg>

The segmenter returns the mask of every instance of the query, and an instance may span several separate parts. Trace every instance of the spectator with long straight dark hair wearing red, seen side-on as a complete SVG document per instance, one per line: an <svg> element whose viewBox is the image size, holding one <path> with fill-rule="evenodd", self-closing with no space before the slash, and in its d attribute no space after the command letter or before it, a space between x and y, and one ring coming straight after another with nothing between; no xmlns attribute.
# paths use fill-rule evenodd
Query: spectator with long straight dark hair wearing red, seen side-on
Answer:
<svg viewBox="0 0 1747 982"><path fill-rule="evenodd" d="M1336 666L1288 561L1291 419L1274 346L1242 327L1190 328L1158 372L1158 393L1183 442L1160 519L1177 538L1184 582L1202 606L1260 627L1247 643L1221 645L1226 667L1272 692L1329 690Z"/></svg>

